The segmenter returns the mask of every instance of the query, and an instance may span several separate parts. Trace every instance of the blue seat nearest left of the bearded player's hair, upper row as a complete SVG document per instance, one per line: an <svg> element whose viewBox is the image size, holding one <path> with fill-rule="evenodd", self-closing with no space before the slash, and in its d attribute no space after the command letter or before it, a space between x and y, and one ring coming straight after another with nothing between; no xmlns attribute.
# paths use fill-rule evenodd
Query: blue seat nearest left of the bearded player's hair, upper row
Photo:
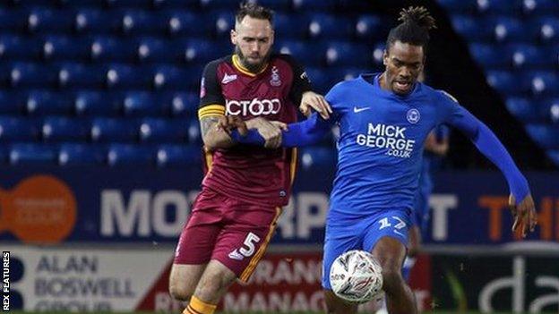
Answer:
<svg viewBox="0 0 559 314"><path fill-rule="evenodd" d="M208 35L213 25L213 22L201 21L193 12L173 10L163 13L163 16L167 21L167 31L173 36L202 37Z"/></svg>

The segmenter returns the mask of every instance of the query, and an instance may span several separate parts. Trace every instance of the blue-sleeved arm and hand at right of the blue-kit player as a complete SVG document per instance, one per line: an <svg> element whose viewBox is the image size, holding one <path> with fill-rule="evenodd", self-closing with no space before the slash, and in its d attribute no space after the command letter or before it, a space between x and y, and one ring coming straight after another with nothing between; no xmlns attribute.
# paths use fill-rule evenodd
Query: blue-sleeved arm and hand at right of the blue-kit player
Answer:
<svg viewBox="0 0 559 314"><path fill-rule="evenodd" d="M452 125L464 132L477 149L504 174L511 190L509 203L514 216L512 230L526 236L526 232L533 231L538 224L538 216L528 181L514 164L511 155L497 139L495 133L466 109L461 109L460 115L453 119Z"/></svg>

